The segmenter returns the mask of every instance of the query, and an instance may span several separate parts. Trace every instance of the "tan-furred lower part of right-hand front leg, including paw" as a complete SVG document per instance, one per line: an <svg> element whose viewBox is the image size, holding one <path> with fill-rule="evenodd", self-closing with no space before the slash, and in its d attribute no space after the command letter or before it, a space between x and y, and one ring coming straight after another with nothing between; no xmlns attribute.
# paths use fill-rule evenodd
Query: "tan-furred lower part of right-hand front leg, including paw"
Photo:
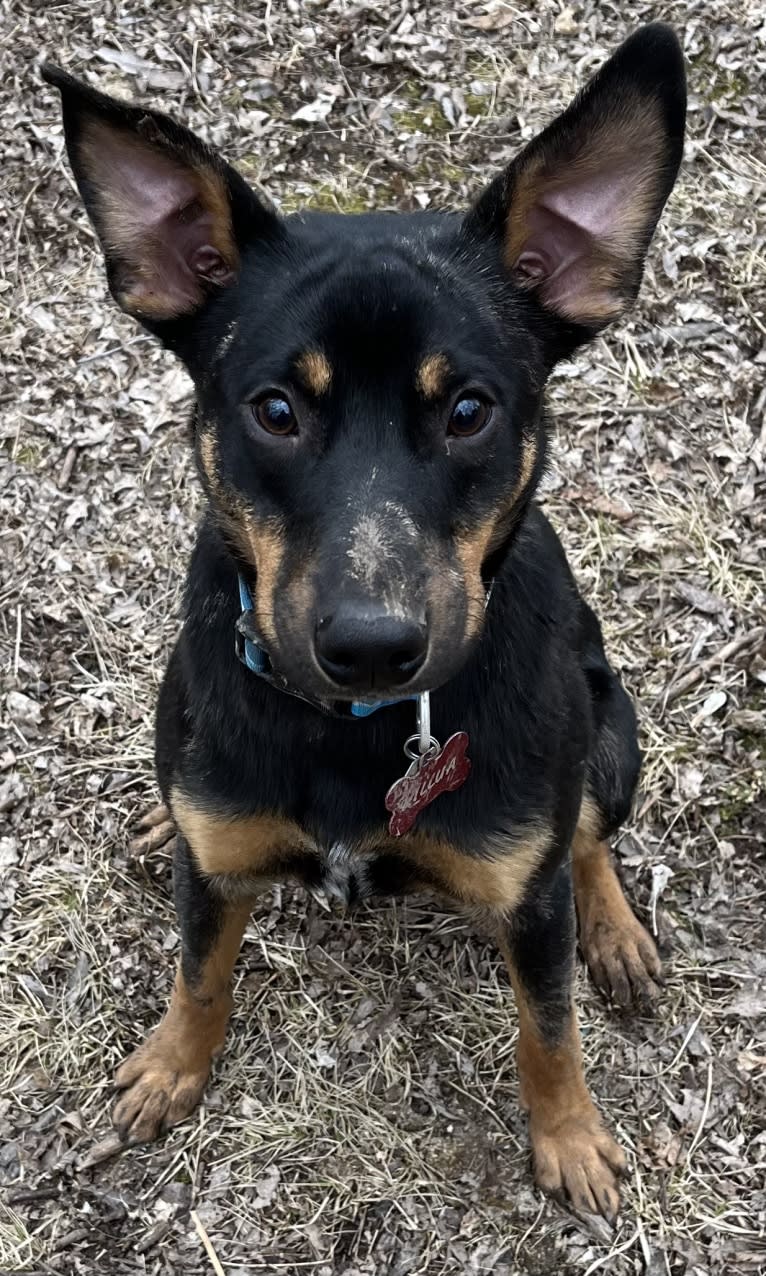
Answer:
<svg viewBox="0 0 766 1276"><path fill-rule="evenodd" d="M619 1210L618 1178L626 1157L604 1129L587 1091L574 1008L564 1031L548 1041L503 948L518 1007L520 1101L530 1115L535 1182L576 1210L612 1220Z"/></svg>

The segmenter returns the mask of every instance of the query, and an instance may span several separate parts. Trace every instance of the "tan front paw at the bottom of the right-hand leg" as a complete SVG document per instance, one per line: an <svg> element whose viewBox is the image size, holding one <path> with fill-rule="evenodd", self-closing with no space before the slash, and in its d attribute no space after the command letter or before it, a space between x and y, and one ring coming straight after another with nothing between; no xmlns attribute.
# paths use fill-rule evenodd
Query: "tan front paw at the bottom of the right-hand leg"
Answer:
<svg viewBox="0 0 766 1276"><path fill-rule="evenodd" d="M627 1169L622 1148L606 1133L594 1108L554 1128L531 1131L535 1182L580 1213L600 1213L614 1222L618 1182Z"/></svg>

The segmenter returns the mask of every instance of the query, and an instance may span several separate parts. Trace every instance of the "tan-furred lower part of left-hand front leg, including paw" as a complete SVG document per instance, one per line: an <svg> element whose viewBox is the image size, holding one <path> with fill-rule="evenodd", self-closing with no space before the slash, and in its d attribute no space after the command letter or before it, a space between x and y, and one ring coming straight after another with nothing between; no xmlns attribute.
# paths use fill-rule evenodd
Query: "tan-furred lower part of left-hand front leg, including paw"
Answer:
<svg viewBox="0 0 766 1276"><path fill-rule="evenodd" d="M179 970L160 1026L117 1069L125 1094L114 1111L123 1138L143 1143L184 1120L204 1091L213 1059L223 1048L231 1013L229 981L252 902L229 907L199 977L189 986Z"/></svg>

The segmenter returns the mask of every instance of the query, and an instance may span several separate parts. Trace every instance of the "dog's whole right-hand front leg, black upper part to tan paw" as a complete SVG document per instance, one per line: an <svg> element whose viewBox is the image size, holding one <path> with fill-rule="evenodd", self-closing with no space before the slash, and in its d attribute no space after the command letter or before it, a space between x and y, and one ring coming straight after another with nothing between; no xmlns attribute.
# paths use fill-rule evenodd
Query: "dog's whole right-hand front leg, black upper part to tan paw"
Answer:
<svg viewBox="0 0 766 1276"><path fill-rule="evenodd" d="M500 923L500 946L518 1005L520 1097L529 1110L537 1185L612 1220L626 1159L604 1129L582 1072L568 864Z"/></svg>

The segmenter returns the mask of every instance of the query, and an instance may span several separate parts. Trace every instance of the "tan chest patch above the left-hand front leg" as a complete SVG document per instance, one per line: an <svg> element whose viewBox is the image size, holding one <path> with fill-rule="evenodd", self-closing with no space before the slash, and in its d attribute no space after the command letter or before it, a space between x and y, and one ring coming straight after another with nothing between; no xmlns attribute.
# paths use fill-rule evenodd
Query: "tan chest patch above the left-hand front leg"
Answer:
<svg viewBox="0 0 766 1276"><path fill-rule="evenodd" d="M241 819L214 815L195 806L180 789L172 790L170 805L199 868L211 875L250 873L266 877L278 872L282 856L309 849L299 826L280 815Z"/></svg>

